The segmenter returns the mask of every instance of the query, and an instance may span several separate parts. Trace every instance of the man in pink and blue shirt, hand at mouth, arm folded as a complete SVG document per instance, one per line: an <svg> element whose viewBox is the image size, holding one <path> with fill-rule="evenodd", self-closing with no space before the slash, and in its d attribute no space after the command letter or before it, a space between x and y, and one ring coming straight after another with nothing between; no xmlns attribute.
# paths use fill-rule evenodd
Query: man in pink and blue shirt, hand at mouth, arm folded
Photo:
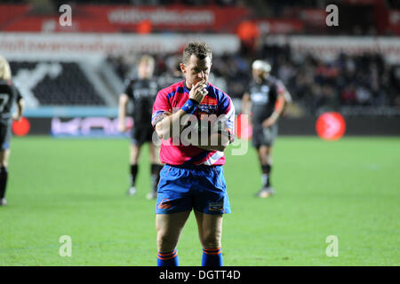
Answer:
<svg viewBox="0 0 400 284"><path fill-rule="evenodd" d="M222 265L222 215L231 212L222 165L224 150L233 138L235 107L226 93L208 83L211 67L212 51L207 44L188 43L180 63L185 80L159 91L153 106L152 124L162 138L160 159L165 163L156 201L159 266L179 265L176 247L192 209L203 247L202 265ZM196 119L214 114L220 128L201 144L174 143L185 129L175 133L174 128L188 114ZM212 143L214 138L218 143Z"/></svg>

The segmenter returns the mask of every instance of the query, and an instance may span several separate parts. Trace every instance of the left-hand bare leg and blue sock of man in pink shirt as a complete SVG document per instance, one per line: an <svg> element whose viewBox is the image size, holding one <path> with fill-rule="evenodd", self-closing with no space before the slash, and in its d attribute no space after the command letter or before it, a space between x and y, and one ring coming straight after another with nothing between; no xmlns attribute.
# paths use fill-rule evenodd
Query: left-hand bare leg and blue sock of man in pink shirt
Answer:
<svg viewBox="0 0 400 284"><path fill-rule="evenodd" d="M156 214L157 266L178 266L176 246L190 211Z"/></svg>

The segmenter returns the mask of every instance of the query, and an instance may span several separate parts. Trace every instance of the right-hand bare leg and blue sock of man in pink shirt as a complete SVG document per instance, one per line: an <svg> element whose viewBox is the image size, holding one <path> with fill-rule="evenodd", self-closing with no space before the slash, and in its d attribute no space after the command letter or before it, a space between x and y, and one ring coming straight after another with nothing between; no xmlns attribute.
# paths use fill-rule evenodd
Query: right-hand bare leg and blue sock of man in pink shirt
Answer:
<svg viewBox="0 0 400 284"><path fill-rule="evenodd" d="M203 246L202 266L222 266L222 214L204 214L195 210L195 215Z"/></svg>

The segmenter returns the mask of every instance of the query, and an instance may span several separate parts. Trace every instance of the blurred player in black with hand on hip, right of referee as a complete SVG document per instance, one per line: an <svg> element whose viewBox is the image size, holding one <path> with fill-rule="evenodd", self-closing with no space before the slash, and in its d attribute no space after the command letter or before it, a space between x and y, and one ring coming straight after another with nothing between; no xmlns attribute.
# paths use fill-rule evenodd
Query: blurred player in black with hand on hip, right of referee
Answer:
<svg viewBox="0 0 400 284"><path fill-rule="evenodd" d="M257 196L267 198L274 194L271 185L272 146L277 135L277 120L292 101L284 84L269 75L271 66L266 61L252 63L252 83L243 97L243 114L250 114L252 146L257 149L262 170L262 187Z"/></svg>

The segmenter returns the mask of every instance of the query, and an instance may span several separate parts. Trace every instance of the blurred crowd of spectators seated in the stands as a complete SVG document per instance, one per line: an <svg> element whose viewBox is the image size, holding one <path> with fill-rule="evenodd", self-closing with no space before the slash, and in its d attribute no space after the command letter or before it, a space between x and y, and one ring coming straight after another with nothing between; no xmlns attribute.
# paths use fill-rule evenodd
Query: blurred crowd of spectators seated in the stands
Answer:
<svg viewBox="0 0 400 284"><path fill-rule="evenodd" d="M154 54L161 85L180 79L180 53ZM109 57L121 78L134 77L135 54ZM325 62L308 53L292 56L289 46L260 44L252 56L223 54L212 59L213 79L233 98L242 98L252 80L252 60L266 59L271 75L281 79L308 114L340 106L400 106L400 66L388 65L379 53L356 56L341 53Z"/></svg>

